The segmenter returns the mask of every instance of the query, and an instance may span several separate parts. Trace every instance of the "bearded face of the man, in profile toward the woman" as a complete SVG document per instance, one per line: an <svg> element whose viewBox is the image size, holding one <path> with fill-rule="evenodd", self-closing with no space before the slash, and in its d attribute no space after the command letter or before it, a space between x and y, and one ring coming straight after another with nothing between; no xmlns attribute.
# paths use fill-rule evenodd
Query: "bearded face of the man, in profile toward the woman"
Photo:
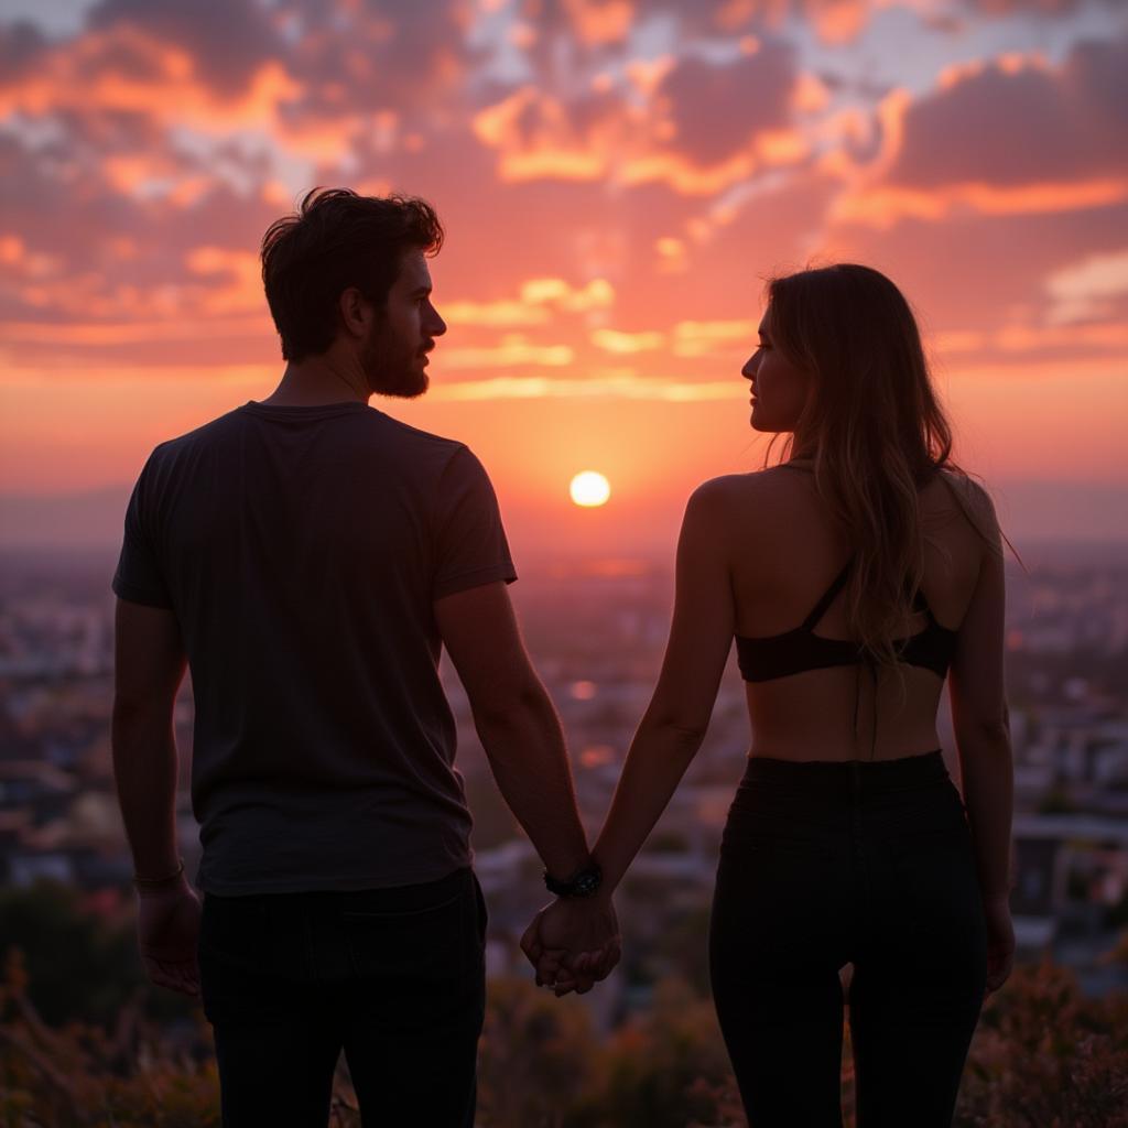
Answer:
<svg viewBox="0 0 1128 1128"><path fill-rule="evenodd" d="M428 388L428 356L447 323L431 305L431 272L422 250L407 250L388 303L364 342L362 361L369 387L381 396L406 399Z"/></svg>

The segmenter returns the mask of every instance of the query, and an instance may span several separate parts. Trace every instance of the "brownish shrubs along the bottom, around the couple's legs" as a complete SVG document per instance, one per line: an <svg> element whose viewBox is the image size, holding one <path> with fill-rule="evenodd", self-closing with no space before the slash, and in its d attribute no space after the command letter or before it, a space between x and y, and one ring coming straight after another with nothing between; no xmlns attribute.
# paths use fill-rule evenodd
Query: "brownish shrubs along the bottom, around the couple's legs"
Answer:
<svg viewBox="0 0 1128 1128"><path fill-rule="evenodd" d="M8 895L8 907L17 896ZM37 897L46 917L62 919L67 936L78 935L53 895L24 896ZM26 906L8 919L23 919L20 913ZM124 972L116 981L76 980L83 968L94 975L113 966L86 963L81 953L61 967L42 954L25 967L11 938L0 936L0 1123L219 1125L211 1030L197 1006L135 986ZM120 942L97 938L109 945L105 951ZM41 952L56 950L51 941ZM1128 940L1110 953L1126 958ZM37 973L49 980L38 990ZM68 982L73 1006L61 1014L60 988ZM114 993L118 1002L105 1019ZM49 1003L51 1022L37 998ZM848 1028L844 1034L843 1109L853 1128ZM679 980L660 984L650 1008L606 1038L574 996L557 999L526 978L492 980L478 1060L478 1128L744 1128L712 1003ZM343 1065L331 1123L360 1125ZM1016 968L984 1008L953 1123L1128 1128L1128 993L1089 999L1064 968Z"/></svg>

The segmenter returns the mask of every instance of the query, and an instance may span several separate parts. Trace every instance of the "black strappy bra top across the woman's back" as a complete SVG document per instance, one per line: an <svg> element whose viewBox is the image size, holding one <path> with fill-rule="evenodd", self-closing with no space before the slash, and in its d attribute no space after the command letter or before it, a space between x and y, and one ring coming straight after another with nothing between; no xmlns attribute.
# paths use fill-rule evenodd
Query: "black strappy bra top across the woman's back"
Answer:
<svg viewBox="0 0 1128 1128"><path fill-rule="evenodd" d="M814 633L819 619L827 613L835 597L846 585L853 558L846 562L841 572L822 593L811 614L801 626L783 634L761 638L737 635L737 661L746 681L770 681L786 678L804 670L821 670L831 666L853 666L863 661L857 643L848 638L825 638ZM928 624L907 638L895 640L898 658L909 666L932 670L943 678L955 650L957 633L941 626L932 614L924 593L917 591L913 609L928 617Z"/></svg>

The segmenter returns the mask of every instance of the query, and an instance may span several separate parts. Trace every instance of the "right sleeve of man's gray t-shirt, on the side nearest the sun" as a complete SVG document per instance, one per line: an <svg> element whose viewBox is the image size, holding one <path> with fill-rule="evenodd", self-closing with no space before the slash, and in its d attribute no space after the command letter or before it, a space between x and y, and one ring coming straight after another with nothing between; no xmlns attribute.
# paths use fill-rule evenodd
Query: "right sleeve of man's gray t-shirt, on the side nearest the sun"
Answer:
<svg viewBox="0 0 1128 1128"><path fill-rule="evenodd" d="M437 515L432 599L517 579L493 485L467 447L459 447L442 472Z"/></svg>

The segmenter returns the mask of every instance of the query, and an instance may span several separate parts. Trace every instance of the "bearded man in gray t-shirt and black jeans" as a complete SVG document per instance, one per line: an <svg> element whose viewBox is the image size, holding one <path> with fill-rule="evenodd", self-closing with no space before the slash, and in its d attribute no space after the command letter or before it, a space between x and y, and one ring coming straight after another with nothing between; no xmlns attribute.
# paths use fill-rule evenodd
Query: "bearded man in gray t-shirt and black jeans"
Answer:
<svg viewBox="0 0 1128 1128"><path fill-rule="evenodd" d="M153 982L201 994L223 1123L472 1126L486 910L439 681L446 645L499 787L563 900L537 943L617 957L555 711L526 655L493 488L414 397L446 325L423 201L310 192L263 240L288 367L160 444L114 576L114 768ZM192 672L200 901L177 857L173 705ZM199 951L199 962L197 962ZM538 948L538 954L540 949Z"/></svg>

